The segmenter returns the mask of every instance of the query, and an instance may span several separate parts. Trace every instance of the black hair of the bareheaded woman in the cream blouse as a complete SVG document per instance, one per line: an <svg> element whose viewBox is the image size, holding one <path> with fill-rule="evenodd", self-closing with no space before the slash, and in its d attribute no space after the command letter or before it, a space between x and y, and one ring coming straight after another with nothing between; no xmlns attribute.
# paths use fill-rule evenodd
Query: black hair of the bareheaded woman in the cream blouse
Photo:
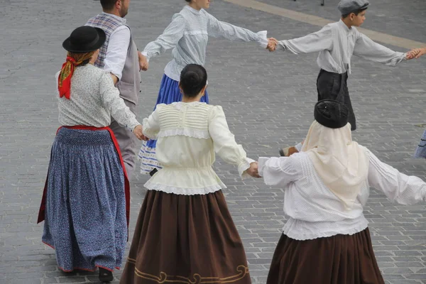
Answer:
<svg viewBox="0 0 426 284"><path fill-rule="evenodd" d="M186 97L197 97L207 84L207 71L201 65L188 64L180 73L179 85Z"/></svg>

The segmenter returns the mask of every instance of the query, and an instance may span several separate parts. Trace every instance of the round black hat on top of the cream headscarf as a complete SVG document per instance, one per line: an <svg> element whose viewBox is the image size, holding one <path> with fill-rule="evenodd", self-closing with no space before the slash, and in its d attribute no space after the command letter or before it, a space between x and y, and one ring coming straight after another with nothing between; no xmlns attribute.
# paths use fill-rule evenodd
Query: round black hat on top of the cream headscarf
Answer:
<svg viewBox="0 0 426 284"><path fill-rule="evenodd" d="M339 129L349 121L349 109L341 102L323 99L315 104L315 120L330 129Z"/></svg>

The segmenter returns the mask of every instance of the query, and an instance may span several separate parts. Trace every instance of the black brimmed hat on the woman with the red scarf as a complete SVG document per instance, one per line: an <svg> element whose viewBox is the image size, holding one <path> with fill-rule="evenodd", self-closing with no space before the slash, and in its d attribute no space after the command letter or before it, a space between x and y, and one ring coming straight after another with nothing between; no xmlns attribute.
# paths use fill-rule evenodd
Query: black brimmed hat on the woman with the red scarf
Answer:
<svg viewBox="0 0 426 284"><path fill-rule="evenodd" d="M100 48L107 38L102 28L81 26L72 31L62 46L72 53L89 53Z"/></svg>

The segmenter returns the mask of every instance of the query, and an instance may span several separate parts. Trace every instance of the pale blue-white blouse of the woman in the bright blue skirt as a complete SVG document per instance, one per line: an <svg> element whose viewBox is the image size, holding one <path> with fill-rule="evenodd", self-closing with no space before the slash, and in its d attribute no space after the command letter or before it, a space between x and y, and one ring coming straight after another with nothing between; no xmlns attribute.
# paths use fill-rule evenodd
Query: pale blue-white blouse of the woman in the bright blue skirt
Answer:
<svg viewBox="0 0 426 284"><path fill-rule="evenodd" d="M188 64L204 66L209 36L229 40L256 41L263 48L268 45L266 31L253 33L246 28L218 21L204 9L200 11L185 6L173 16L162 35L146 45L143 55L149 60L173 48L173 59L165 66L165 75L180 81L180 72Z"/></svg>

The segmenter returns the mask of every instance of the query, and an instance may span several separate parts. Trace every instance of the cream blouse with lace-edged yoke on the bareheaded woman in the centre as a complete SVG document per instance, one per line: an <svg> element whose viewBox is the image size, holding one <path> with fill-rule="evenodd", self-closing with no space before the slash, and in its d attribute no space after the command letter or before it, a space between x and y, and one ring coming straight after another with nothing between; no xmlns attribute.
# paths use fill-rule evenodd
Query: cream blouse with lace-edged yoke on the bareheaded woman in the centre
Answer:
<svg viewBox="0 0 426 284"><path fill-rule="evenodd" d="M205 195L226 188L212 168L217 153L236 165L241 178L253 160L236 143L222 107L201 102L158 104L143 119L143 134L157 139L156 158L163 166L146 182L148 190Z"/></svg>

